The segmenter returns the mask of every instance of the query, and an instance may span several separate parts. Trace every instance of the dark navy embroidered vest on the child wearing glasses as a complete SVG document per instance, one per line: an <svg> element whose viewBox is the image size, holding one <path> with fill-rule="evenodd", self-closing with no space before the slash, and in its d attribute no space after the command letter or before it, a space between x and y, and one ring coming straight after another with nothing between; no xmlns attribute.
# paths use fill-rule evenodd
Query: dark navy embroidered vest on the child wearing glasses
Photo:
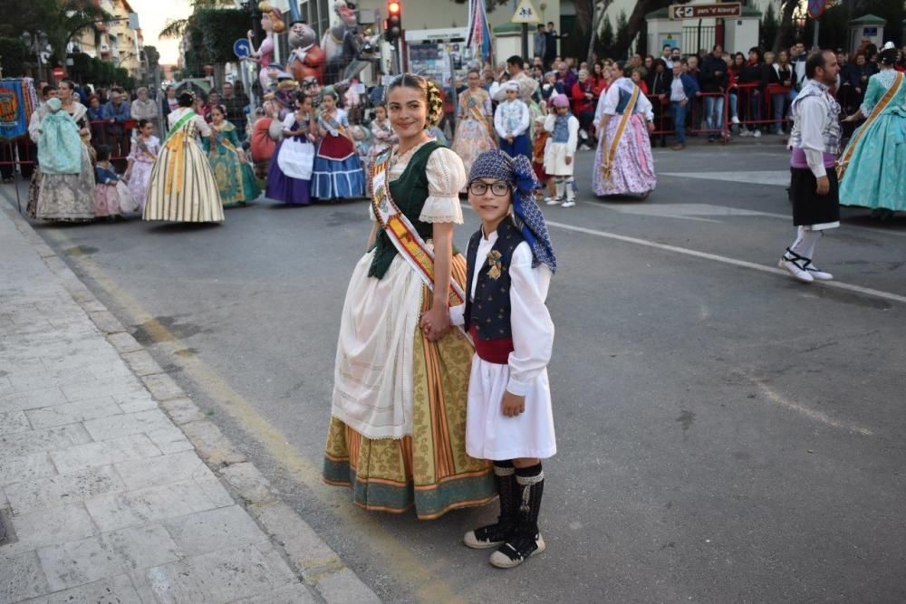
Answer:
<svg viewBox="0 0 906 604"><path fill-rule="evenodd" d="M522 232L516 228L510 218L506 218L497 227L497 240L486 258L477 258L478 244L481 242L479 229L468 240L467 252L467 290L466 311L464 318L466 329L477 335L477 340L506 340L512 338L510 328L510 262L516 246L525 241ZM492 258L493 257L493 258ZM478 271L475 287L475 300L470 294L472 281ZM478 344L476 343L476 349ZM512 350L512 345L510 346ZM479 355L480 356L480 355ZM506 360L504 361L506 363Z"/></svg>

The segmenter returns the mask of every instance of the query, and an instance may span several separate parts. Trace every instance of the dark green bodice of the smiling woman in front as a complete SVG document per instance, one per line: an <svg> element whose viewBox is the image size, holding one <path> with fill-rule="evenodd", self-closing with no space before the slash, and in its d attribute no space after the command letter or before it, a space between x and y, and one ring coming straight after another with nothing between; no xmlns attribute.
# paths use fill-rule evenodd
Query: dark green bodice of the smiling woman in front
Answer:
<svg viewBox="0 0 906 604"><path fill-rule="evenodd" d="M419 221L419 216L421 216L422 207L425 206L425 200L428 199L428 159L434 149L438 149L440 146L440 143L435 140L426 142L412 155L400 177L390 183L390 197L393 197L400 212L410 219L415 230L425 241L428 241L433 235L434 227L429 223ZM456 250L454 250L455 252ZM380 229L378 238L374 242L374 258L371 260L368 276L382 279L398 253L396 246L390 241L390 237L384 233L383 229Z"/></svg>

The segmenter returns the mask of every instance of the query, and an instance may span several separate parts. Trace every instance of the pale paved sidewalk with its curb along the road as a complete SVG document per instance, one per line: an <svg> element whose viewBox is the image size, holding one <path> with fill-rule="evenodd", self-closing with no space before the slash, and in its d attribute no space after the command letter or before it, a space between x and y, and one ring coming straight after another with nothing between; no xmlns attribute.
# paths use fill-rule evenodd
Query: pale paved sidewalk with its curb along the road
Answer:
<svg viewBox="0 0 906 604"><path fill-rule="evenodd" d="M0 602L379 601L2 201L0 515Z"/></svg>

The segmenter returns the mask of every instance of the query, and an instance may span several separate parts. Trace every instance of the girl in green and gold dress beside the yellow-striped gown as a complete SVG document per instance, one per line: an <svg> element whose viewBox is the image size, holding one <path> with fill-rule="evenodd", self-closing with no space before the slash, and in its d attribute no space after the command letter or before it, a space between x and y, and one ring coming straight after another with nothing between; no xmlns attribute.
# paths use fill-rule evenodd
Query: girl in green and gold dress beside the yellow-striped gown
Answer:
<svg viewBox="0 0 906 604"><path fill-rule="evenodd" d="M261 195L261 188L246 160L246 152L239 142L236 126L226 120L223 105L211 108L211 129L214 136L204 139L205 150L210 158L211 169L217 178L220 201L224 207L243 205L255 201Z"/></svg>

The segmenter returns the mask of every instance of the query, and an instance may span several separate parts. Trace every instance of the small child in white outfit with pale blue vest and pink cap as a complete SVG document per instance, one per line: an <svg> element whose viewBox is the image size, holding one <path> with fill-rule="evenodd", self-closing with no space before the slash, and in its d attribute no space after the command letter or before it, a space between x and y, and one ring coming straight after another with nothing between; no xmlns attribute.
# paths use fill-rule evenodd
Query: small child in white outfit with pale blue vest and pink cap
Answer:
<svg viewBox="0 0 906 604"><path fill-rule="evenodd" d="M553 104L554 112L548 113L545 118L545 130L551 133L550 143L545 149L545 173L554 178L556 196L547 205L573 207L573 158L579 144L579 120L570 113L569 98L565 94L555 96Z"/></svg>

